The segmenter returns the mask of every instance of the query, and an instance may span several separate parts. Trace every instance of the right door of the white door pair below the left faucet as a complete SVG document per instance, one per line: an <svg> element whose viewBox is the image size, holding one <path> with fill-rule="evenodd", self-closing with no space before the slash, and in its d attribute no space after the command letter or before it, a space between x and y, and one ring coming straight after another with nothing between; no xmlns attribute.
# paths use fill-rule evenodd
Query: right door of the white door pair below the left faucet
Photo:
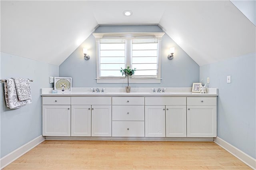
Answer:
<svg viewBox="0 0 256 170"><path fill-rule="evenodd" d="M92 105L92 136L111 136L111 105Z"/></svg>

